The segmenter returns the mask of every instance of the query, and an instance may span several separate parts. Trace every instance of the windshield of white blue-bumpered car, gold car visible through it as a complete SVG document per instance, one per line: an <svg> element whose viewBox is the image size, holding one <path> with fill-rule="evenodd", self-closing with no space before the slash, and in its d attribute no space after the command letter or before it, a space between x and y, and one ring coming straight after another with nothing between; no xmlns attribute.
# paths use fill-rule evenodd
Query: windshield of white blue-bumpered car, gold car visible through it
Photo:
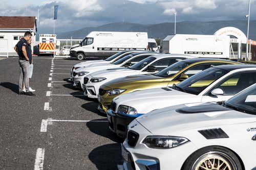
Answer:
<svg viewBox="0 0 256 170"><path fill-rule="evenodd" d="M211 83L218 80L220 77L227 74L229 71L221 68L211 67L205 69L198 74L187 78L181 83L177 84L178 89L183 89L187 93L198 95L202 92L206 87L208 87Z"/></svg>

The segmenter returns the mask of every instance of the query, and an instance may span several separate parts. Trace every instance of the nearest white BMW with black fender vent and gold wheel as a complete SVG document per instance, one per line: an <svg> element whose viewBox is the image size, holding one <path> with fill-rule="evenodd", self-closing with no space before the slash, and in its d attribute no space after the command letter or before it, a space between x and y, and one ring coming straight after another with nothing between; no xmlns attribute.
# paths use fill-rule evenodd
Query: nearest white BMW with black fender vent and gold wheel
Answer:
<svg viewBox="0 0 256 170"><path fill-rule="evenodd" d="M122 145L123 167L255 170L255 142L256 84L219 104L177 105L136 118Z"/></svg>

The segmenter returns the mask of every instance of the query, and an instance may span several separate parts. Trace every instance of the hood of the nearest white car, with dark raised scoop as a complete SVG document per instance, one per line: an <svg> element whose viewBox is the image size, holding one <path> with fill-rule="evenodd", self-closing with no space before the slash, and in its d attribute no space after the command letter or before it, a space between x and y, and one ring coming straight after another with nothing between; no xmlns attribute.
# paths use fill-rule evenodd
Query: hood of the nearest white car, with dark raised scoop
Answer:
<svg viewBox="0 0 256 170"><path fill-rule="evenodd" d="M215 103L194 103L158 109L137 121L153 135L172 135L193 128L255 122L256 116Z"/></svg>

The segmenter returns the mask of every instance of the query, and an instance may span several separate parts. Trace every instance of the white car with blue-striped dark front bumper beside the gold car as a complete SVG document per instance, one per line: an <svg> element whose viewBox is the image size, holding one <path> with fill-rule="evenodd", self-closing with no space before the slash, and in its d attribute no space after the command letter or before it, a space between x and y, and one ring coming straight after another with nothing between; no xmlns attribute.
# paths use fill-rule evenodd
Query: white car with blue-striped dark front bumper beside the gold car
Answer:
<svg viewBox="0 0 256 170"><path fill-rule="evenodd" d="M256 83L255 75L255 65L220 65L201 71L173 88L119 95L113 99L112 110L107 112L110 129L123 137L132 120L150 111L185 103L226 101Z"/></svg>

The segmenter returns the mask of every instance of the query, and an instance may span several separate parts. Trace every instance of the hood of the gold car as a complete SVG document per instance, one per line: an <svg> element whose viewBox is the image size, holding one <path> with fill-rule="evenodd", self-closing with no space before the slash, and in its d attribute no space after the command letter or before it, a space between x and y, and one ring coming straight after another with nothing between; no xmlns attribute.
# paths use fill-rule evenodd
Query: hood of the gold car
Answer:
<svg viewBox="0 0 256 170"><path fill-rule="evenodd" d="M154 75L132 75L111 80L109 82L106 82L104 85L109 88L119 88L123 85L127 86L129 84L135 85L143 83L159 83L164 80L165 79Z"/></svg>

